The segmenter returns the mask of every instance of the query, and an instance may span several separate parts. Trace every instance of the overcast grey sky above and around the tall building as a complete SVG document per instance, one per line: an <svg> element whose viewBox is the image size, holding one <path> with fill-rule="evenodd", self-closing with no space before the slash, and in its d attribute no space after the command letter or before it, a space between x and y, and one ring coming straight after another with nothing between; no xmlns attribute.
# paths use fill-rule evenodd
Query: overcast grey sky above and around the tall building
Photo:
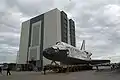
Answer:
<svg viewBox="0 0 120 80"><path fill-rule="evenodd" d="M75 20L77 47L120 61L120 0L0 0L0 62L15 62L21 23L54 8Z"/></svg>

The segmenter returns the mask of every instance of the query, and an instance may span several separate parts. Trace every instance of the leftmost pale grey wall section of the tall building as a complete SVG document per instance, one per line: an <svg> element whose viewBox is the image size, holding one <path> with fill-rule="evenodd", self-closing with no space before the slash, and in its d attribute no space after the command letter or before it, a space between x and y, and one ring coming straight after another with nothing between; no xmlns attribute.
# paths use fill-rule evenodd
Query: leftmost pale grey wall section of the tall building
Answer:
<svg viewBox="0 0 120 80"><path fill-rule="evenodd" d="M19 61L18 64L26 64L28 53L30 21L23 22L21 28L20 45L19 45Z"/></svg>

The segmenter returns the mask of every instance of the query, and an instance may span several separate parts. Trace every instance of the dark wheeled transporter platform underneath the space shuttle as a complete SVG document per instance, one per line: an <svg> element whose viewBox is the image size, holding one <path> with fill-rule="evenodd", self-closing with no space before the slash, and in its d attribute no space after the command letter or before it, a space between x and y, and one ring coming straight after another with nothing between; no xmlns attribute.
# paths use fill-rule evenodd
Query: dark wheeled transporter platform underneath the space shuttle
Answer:
<svg viewBox="0 0 120 80"><path fill-rule="evenodd" d="M81 70L92 70L92 66L89 65L46 65L44 66L44 71L54 71L56 73L65 72L77 72Z"/></svg>

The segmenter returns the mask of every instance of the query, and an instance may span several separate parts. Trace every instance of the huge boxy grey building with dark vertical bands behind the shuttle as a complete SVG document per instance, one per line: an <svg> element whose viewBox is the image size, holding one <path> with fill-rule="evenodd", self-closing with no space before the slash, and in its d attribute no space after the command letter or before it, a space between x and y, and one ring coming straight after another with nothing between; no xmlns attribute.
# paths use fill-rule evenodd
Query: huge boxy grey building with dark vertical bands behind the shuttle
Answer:
<svg viewBox="0 0 120 80"><path fill-rule="evenodd" d="M49 64L42 51L57 41L76 46L75 23L64 11L53 9L22 23L18 64L34 59L36 66Z"/></svg>

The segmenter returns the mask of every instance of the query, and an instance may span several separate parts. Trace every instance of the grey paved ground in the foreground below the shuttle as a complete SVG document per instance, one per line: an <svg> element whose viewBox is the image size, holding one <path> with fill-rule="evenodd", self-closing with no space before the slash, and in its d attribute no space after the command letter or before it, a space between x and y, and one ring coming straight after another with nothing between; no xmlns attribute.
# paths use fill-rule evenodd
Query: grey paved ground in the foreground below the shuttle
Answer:
<svg viewBox="0 0 120 80"><path fill-rule="evenodd" d="M6 74L4 72L4 74ZM12 72L11 76L0 75L0 80L120 80L120 72L81 71L72 73Z"/></svg>

